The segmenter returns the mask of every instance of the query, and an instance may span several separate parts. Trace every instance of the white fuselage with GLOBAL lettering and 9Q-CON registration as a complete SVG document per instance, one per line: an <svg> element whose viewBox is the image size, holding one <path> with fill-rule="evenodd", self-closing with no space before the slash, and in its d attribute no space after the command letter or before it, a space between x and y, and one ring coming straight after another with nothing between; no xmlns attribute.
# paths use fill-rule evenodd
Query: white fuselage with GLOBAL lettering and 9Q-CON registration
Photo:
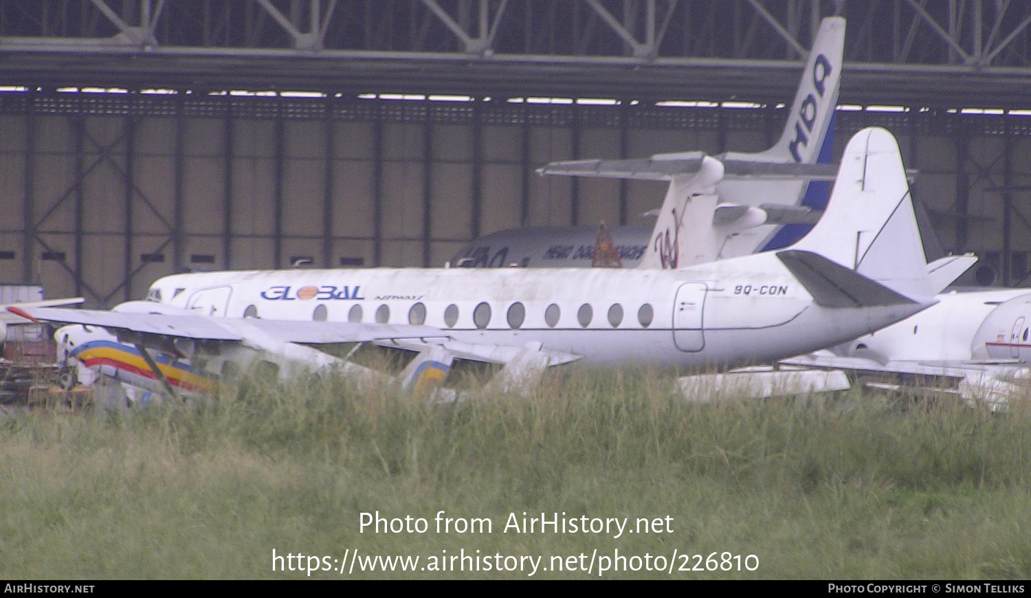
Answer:
<svg viewBox="0 0 1031 598"><path fill-rule="evenodd" d="M830 309L775 255L683 270L524 268L211 272L166 276L159 300L196 313L435 327L455 340L602 364L724 367L843 342L920 309Z"/></svg>

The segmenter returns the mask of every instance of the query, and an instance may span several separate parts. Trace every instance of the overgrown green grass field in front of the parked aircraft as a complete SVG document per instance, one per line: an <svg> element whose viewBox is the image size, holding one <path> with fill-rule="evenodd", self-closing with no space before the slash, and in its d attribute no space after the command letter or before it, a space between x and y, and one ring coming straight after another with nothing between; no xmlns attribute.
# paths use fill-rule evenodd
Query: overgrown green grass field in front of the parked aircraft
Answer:
<svg viewBox="0 0 1031 598"><path fill-rule="evenodd" d="M603 577L1031 578L1026 403L695 404L669 376L580 371L431 405L328 380L8 410L0 453L8 578L576 578L606 559ZM570 530L595 518L609 530ZM376 556L420 560L363 571Z"/></svg>

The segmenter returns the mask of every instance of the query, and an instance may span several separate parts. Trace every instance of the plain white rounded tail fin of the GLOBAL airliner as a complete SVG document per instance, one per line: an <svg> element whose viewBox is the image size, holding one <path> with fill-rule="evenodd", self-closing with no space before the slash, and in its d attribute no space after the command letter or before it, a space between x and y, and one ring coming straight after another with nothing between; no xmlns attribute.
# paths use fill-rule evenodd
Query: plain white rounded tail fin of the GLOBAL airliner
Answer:
<svg viewBox="0 0 1031 598"><path fill-rule="evenodd" d="M849 141L824 215L809 234L777 256L786 265L817 262L800 258L800 252L817 254L918 302L939 291L928 272L902 157L891 133L868 128ZM822 269L832 268L822 264Z"/></svg>

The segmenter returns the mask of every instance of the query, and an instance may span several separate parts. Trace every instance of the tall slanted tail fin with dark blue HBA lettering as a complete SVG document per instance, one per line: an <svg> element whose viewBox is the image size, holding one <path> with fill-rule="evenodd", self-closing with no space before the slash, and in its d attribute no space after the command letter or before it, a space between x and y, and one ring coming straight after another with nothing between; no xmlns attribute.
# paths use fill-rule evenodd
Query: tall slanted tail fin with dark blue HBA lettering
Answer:
<svg viewBox="0 0 1031 598"><path fill-rule="evenodd" d="M805 164L817 161L837 106L844 28L841 16L828 16L821 22L784 133L775 145L754 155L756 158Z"/></svg>

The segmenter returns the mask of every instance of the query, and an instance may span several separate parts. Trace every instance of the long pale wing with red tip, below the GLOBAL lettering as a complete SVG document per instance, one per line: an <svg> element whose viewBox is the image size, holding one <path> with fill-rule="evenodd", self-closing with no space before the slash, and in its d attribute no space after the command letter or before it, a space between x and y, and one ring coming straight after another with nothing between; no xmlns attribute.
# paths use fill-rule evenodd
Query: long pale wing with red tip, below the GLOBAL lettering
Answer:
<svg viewBox="0 0 1031 598"><path fill-rule="evenodd" d="M115 335L153 335L194 340L242 341L260 331L280 342L321 344L368 342L380 339L445 337L430 326L394 326L353 322L289 322L281 320L232 320L200 314L140 313L97 309L15 307L8 311L29 320L98 326Z"/></svg>

